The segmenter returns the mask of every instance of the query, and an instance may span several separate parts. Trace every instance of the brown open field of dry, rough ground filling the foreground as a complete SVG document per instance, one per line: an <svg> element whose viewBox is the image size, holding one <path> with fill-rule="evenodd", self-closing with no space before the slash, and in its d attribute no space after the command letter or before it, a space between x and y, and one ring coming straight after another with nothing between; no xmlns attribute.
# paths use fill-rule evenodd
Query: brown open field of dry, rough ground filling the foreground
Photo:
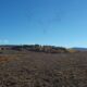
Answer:
<svg viewBox="0 0 87 87"><path fill-rule="evenodd" d="M87 87L87 52L3 52L0 87Z"/></svg>

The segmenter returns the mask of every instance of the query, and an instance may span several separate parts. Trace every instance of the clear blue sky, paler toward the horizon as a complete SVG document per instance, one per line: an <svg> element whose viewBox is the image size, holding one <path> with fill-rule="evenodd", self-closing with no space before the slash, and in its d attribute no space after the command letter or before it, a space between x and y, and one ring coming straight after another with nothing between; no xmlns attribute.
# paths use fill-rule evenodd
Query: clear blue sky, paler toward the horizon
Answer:
<svg viewBox="0 0 87 87"><path fill-rule="evenodd" d="M0 44L87 47L87 0L0 0Z"/></svg>

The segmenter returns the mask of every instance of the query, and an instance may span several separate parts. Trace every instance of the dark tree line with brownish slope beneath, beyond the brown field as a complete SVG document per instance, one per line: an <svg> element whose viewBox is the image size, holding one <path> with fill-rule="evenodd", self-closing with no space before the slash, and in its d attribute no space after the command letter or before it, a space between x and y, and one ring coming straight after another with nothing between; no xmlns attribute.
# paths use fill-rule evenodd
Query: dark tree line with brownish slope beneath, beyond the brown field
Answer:
<svg viewBox="0 0 87 87"><path fill-rule="evenodd" d="M55 47L55 46L40 46L40 45L22 45L22 46L14 46L12 50L27 50L27 51L35 51L35 52L46 52L46 53L63 53L69 52L66 48L63 47Z"/></svg>

